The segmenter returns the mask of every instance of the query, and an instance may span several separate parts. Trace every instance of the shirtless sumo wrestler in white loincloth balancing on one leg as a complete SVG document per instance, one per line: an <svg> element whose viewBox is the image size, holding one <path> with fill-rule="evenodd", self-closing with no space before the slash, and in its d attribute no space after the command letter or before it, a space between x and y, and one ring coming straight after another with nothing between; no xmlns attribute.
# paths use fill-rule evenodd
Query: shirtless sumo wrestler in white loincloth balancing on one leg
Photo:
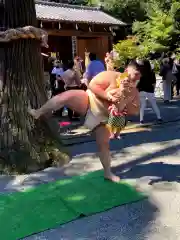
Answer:
<svg viewBox="0 0 180 240"><path fill-rule="evenodd" d="M136 89L136 82L141 76L139 65L136 62L131 62L127 67L127 73L128 81L134 82L134 88L131 91L133 102L127 103L126 109L128 115L136 115L139 113L139 94ZM113 182L118 182L120 178L111 172L110 133L105 123L109 115L109 104L118 102L124 105L126 101L117 88L117 78L120 75L121 73L114 71L101 72L92 79L86 92L70 90L51 98L40 109L30 110L30 114L35 119L64 106L86 116L85 126L95 132L99 158L104 169L104 178Z"/></svg>

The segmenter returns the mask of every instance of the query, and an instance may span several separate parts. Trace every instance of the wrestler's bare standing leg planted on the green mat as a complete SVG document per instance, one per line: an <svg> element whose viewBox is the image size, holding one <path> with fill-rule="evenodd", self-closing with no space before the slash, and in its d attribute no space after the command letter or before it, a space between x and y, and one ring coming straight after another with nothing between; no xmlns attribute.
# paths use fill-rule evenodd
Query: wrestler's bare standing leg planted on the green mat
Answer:
<svg viewBox="0 0 180 240"><path fill-rule="evenodd" d="M104 178L119 182L120 178L111 172L111 156L109 150L109 130L105 125L100 125L95 130L99 158L104 169Z"/></svg>

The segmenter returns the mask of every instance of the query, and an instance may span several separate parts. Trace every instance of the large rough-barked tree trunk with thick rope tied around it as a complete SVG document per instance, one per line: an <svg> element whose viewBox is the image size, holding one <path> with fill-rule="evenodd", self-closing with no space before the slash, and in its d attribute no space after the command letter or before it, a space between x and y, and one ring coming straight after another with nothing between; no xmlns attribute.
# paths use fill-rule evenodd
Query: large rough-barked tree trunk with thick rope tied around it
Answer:
<svg viewBox="0 0 180 240"><path fill-rule="evenodd" d="M0 1L1 30L36 27L34 0ZM0 88L0 170L29 172L45 167L55 143L47 123L28 114L29 105L38 108L47 100L40 41L0 43Z"/></svg>

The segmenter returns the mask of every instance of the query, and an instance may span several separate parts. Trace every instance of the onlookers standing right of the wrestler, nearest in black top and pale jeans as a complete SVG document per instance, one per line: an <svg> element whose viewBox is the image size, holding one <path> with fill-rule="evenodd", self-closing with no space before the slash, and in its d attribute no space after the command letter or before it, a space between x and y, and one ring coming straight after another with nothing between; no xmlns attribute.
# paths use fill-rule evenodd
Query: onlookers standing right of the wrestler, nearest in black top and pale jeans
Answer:
<svg viewBox="0 0 180 240"><path fill-rule="evenodd" d="M162 77L164 103L169 104L173 97L178 97L180 93L180 61L172 53L164 55L159 61L159 75ZM139 64L141 64L141 61L139 61ZM157 121L160 123L162 122L161 113L154 94L156 87L154 65L147 59L143 61L143 64L144 72L137 84L140 96L140 123L144 123L144 111L147 100L156 114Z"/></svg>

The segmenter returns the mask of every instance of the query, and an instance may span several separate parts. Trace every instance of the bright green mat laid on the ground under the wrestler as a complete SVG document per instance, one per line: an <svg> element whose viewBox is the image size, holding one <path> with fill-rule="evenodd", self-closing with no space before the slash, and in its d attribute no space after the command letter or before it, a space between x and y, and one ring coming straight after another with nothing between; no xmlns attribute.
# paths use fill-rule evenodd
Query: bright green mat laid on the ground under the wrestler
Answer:
<svg viewBox="0 0 180 240"><path fill-rule="evenodd" d="M128 184L105 181L102 171L0 195L0 236L20 239L143 198Z"/></svg>

